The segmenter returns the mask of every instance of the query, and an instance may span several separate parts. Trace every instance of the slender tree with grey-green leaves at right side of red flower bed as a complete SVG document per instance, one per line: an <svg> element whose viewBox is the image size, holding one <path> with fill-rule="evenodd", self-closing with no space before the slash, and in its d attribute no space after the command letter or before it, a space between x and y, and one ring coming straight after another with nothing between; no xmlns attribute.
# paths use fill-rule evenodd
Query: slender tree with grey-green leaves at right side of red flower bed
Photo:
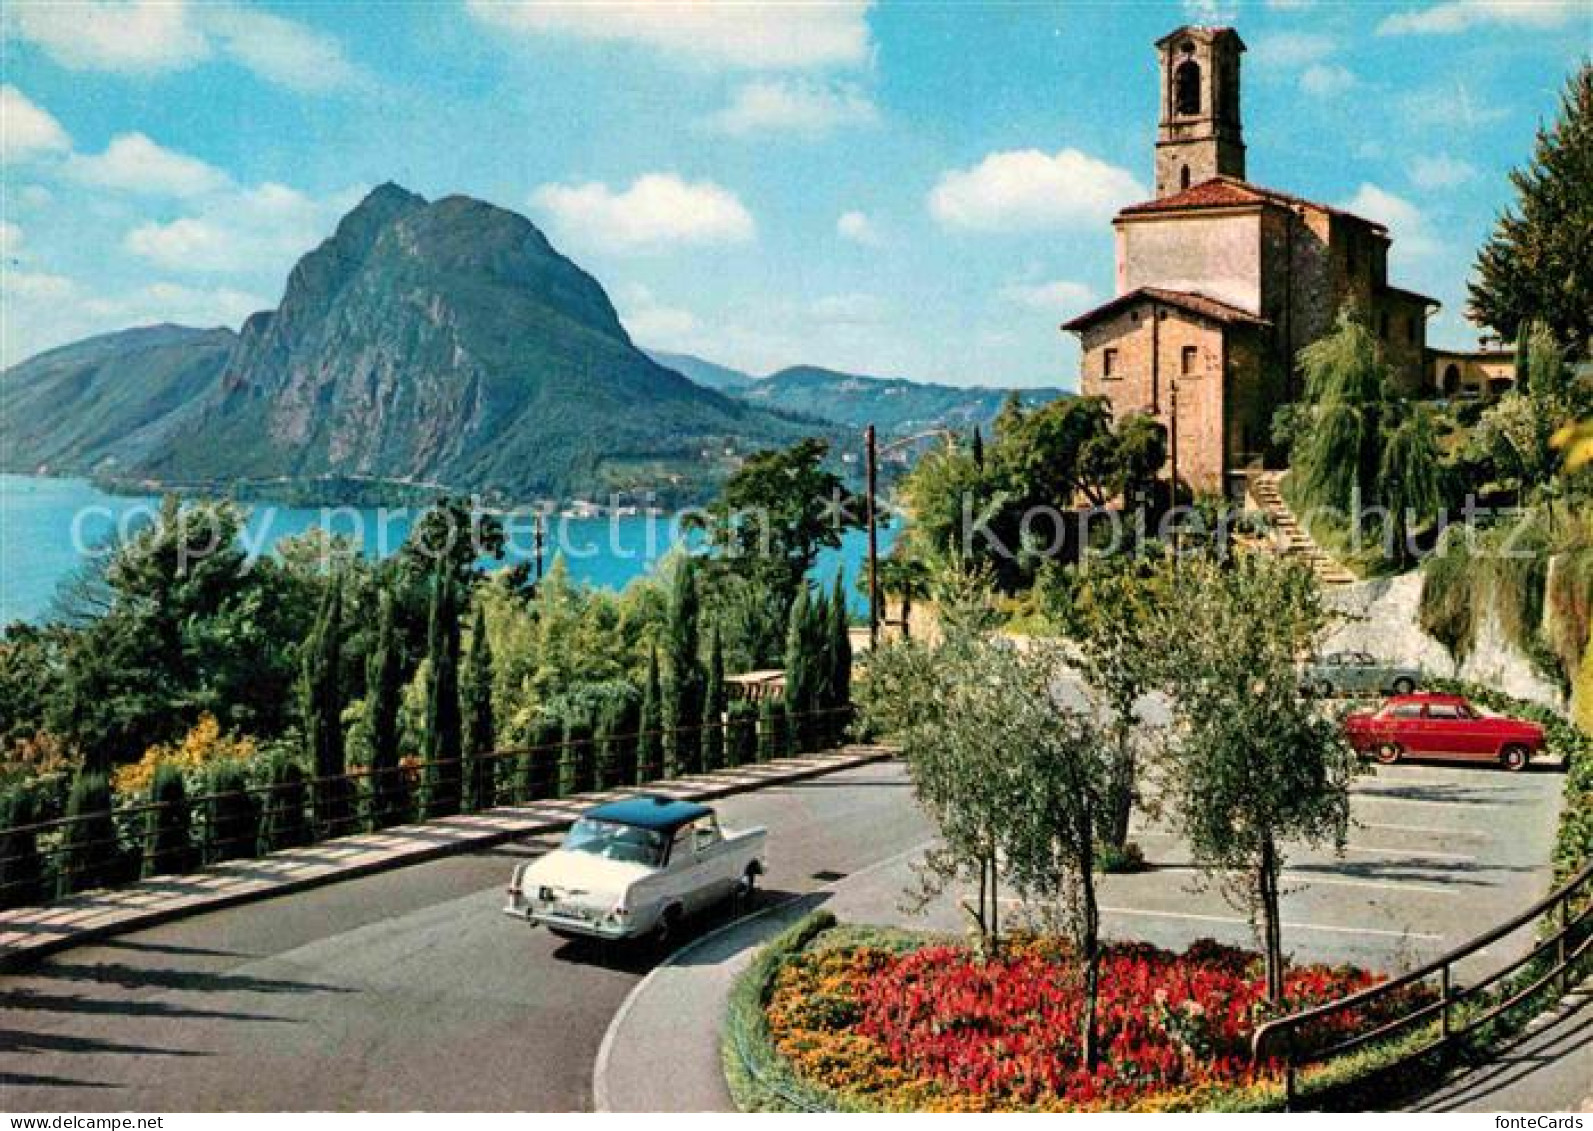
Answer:
<svg viewBox="0 0 1593 1131"><path fill-rule="evenodd" d="M1354 752L1295 691L1295 659L1327 616L1308 569L1263 556L1187 562L1171 616L1172 812L1196 865L1258 919L1266 996L1281 1005L1284 844L1343 849L1349 827Z"/></svg>

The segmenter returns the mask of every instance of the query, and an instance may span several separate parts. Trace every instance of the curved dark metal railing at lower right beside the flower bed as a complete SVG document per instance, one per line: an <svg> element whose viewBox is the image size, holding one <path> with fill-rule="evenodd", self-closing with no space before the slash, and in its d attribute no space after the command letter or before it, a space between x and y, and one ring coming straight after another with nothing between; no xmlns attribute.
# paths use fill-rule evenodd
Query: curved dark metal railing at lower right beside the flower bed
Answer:
<svg viewBox="0 0 1593 1131"><path fill-rule="evenodd" d="M1564 994L1572 972L1593 943L1590 889L1593 860L1528 910L1423 967L1335 1002L1268 1021L1251 1040L1252 1063L1282 1059L1284 1099L1294 1107L1303 1069L1325 1067L1400 1037L1410 1039L1411 1045L1399 1050L1392 1063L1407 1063L1450 1048L1458 1039L1509 1013L1545 988L1553 986L1556 994ZM1540 919L1545 919L1545 932L1526 954L1472 984L1456 981L1454 967L1459 962ZM1517 972L1523 972L1520 980L1505 981ZM1438 983L1437 997L1429 1000L1410 992L1434 980ZM1410 1008L1399 1008L1402 996L1410 999ZM1359 1012L1372 1018L1365 1031L1344 1037L1332 1024ZM1333 1034L1335 1039L1330 1043L1313 1043L1313 1029Z"/></svg>

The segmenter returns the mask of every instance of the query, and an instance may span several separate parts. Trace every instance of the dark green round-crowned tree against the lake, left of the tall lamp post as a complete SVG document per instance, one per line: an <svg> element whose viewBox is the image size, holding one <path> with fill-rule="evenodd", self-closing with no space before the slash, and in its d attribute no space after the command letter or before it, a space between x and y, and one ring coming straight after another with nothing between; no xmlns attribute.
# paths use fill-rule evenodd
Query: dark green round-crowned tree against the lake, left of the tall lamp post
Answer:
<svg viewBox="0 0 1593 1131"><path fill-rule="evenodd" d="M819 551L862 526L841 476L825 470L828 454L825 441L809 438L755 452L736 468L698 522L715 570L761 581L782 609L795 599Z"/></svg>

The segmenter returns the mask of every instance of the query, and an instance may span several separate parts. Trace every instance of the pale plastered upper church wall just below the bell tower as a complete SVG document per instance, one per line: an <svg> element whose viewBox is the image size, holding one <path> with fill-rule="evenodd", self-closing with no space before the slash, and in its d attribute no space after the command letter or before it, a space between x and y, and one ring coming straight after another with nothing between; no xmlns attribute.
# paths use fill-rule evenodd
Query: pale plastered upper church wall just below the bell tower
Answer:
<svg viewBox="0 0 1593 1131"><path fill-rule="evenodd" d="M1260 212L1136 217L1117 223L1117 293L1193 290L1262 309Z"/></svg>

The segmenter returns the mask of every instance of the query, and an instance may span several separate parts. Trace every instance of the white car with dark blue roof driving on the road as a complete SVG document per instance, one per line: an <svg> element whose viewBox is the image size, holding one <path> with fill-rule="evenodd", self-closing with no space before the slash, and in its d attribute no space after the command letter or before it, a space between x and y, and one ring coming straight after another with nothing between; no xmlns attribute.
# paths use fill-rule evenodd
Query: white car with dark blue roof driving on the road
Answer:
<svg viewBox="0 0 1593 1131"><path fill-rule="evenodd" d="M558 851L515 868L503 913L562 937L663 940L688 914L752 894L765 836L720 828L706 804L610 801L570 825Z"/></svg>

